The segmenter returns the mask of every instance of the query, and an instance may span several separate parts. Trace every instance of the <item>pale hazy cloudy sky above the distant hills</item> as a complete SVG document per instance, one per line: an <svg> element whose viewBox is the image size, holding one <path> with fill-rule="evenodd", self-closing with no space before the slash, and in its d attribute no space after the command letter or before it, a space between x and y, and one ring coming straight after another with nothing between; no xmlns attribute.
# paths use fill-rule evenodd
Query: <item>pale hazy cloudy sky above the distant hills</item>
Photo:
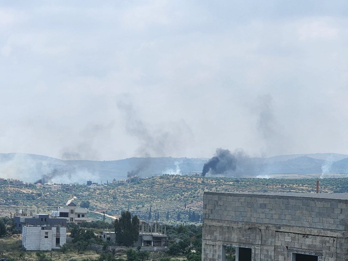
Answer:
<svg viewBox="0 0 348 261"><path fill-rule="evenodd" d="M348 153L347 1L1 1L0 152Z"/></svg>

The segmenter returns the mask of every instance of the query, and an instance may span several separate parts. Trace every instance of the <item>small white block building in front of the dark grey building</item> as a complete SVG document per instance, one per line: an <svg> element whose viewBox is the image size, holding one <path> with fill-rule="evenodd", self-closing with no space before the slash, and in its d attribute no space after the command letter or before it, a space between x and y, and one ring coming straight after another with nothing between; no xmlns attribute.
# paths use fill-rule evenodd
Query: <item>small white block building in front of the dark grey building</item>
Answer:
<svg viewBox="0 0 348 261"><path fill-rule="evenodd" d="M51 251L66 243L66 228L60 226L24 226L22 245L26 250Z"/></svg>

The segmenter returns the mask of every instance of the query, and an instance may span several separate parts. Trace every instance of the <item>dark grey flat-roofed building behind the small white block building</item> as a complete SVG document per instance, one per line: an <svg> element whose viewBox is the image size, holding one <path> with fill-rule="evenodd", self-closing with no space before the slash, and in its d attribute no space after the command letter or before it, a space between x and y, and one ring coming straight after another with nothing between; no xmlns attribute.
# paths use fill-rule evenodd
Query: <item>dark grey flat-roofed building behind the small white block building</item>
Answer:
<svg viewBox="0 0 348 261"><path fill-rule="evenodd" d="M19 213L21 215L22 213ZM32 216L14 216L15 229L22 230L24 226L62 226L66 227L66 219L48 214L32 214Z"/></svg>

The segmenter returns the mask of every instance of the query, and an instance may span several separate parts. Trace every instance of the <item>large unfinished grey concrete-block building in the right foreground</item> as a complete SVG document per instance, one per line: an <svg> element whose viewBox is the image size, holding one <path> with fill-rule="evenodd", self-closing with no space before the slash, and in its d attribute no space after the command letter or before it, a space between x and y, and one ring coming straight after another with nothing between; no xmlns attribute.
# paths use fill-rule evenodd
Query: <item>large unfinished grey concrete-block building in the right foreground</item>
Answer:
<svg viewBox="0 0 348 261"><path fill-rule="evenodd" d="M348 194L204 192L202 261L347 261Z"/></svg>

